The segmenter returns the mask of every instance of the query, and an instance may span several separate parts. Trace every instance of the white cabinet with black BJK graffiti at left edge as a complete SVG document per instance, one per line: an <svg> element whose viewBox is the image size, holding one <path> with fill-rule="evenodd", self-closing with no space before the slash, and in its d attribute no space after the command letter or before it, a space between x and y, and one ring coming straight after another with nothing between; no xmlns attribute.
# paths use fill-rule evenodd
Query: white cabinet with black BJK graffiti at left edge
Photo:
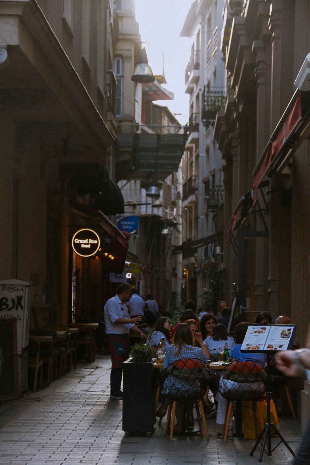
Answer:
<svg viewBox="0 0 310 465"><path fill-rule="evenodd" d="M0 319L17 320L17 352L29 342L31 286L28 281L0 281Z"/></svg>

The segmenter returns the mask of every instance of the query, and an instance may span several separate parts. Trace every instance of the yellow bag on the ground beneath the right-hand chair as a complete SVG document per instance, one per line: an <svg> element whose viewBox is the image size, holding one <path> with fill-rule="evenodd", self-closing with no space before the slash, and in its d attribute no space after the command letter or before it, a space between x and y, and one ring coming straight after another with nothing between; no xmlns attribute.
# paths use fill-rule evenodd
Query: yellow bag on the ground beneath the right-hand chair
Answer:
<svg viewBox="0 0 310 465"><path fill-rule="evenodd" d="M255 421L251 401L243 401L242 405L242 419L243 419L243 431L244 438L256 439L255 434ZM264 429L265 423L267 423L267 400L261 400L256 402L257 406L257 433L259 434ZM273 400L270 400L270 422L277 428L279 426L279 420L277 416L276 406Z"/></svg>

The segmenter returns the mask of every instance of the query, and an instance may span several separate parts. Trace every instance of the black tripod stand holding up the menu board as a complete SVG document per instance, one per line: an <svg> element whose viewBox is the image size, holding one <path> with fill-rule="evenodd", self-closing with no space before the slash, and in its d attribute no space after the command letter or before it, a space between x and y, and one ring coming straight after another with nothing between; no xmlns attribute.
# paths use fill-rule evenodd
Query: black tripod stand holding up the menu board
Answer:
<svg viewBox="0 0 310 465"><path fill-rule="evenodd" d="M261 439L264 436L263 442L262 442L262 449L260 451L260 456L258 461L262 462L263 460L263 454L265 450L265 444L267 443L267 455L272 455L272 452L277 448L278 445L280 445L282 442L283 444L288 448L290 453L292 454L293 457L295 457L294 452L291 450L290 446L288 443L285 441L283 436L277 431L273 423L270 423L270 398L271 398L271 392L270 392L270 353L267 352L267 368L266 368L266 373L267 373L267 383L266 383L266 398L267 398L267 423L264 426L263 431L260 433L258 436L258 439L253 447L253 449L250 452L250 456L253 456L255 449L257 448L257 445L260 443ZM273 428L273 432L277 434L277 436L281 439L280 442L273 448L271 449L271 428Z"/></svg>

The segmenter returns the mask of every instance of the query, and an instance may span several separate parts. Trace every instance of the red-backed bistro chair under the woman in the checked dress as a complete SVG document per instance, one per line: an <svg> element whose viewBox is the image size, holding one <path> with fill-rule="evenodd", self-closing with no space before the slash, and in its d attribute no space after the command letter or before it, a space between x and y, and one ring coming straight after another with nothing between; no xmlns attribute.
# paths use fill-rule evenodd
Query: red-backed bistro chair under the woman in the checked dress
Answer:
<svg viewBox="0 0 310 465"><path fill-rule="evenodd" d="M204 432L207 440L209 441L209 433L202 403L202 399L204 397L204 389L202 385L209 377L204 363L197 359L176 360L166 368L165 375L168 375L167 382L169 388L165 387L164 384L164 394L165 397L170 399L165 427L165 436L167 436L168 428L170 425L170 442L172 441L177 402L194 401L200 436L202 438L204 437L202 429L203 423Z"/></svg>

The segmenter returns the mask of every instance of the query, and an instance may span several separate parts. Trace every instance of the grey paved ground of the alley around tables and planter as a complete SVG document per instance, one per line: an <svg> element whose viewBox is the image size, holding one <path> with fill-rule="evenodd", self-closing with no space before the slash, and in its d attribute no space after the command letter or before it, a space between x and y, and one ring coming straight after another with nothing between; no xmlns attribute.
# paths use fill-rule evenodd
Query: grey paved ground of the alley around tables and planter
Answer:
<svg viewBox="0 0 310 465"><path fill-rule="evenodd" d="M170 443L164 437L165 419L160 428L156 423L152 438L125 438L122 402L109 400L110 367L109 356L98 356L94 364L79 364L49 388L0 403L0 465L258 463L260 447L249 456L254 441L235 438L224 444L215 437L214 420L207 422L209 443L200 437ZM286 440L300 438L297 421L280 419L280 431ZM290 445L296 450L297 443ZM284 465L291 460L280 445L272 457L264 454L263 463Z"/></svg>

